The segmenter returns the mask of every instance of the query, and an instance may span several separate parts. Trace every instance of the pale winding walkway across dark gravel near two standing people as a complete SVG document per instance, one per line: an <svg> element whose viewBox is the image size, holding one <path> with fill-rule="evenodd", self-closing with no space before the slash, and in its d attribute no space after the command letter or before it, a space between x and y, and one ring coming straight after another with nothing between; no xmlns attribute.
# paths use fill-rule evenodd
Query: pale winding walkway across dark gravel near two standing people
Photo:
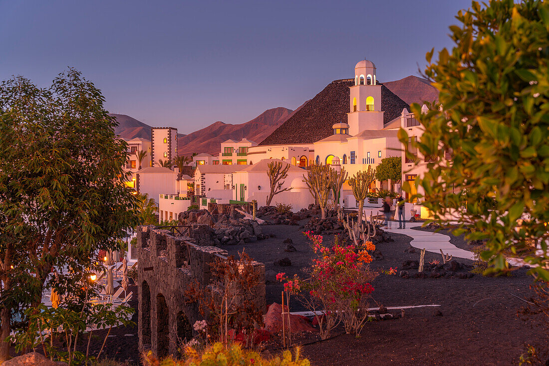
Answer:
<svg viewBox="0 0 549 366"><path fill-rule="evenodd" d="M473 252L463 250L450 243L450 237L448 235L432 232L423 232L420 230L412 230L411 228L421 227L423 222L407 222L406 229L397 229L399 223L391 221L392 229L384 229L389 233L397 233L408 235L412 237L410 245L418 248L425 249L428 252L436 253L440 255L440 249L444 254L450 254L452 257L465 258L473 260Z"/></svg>

